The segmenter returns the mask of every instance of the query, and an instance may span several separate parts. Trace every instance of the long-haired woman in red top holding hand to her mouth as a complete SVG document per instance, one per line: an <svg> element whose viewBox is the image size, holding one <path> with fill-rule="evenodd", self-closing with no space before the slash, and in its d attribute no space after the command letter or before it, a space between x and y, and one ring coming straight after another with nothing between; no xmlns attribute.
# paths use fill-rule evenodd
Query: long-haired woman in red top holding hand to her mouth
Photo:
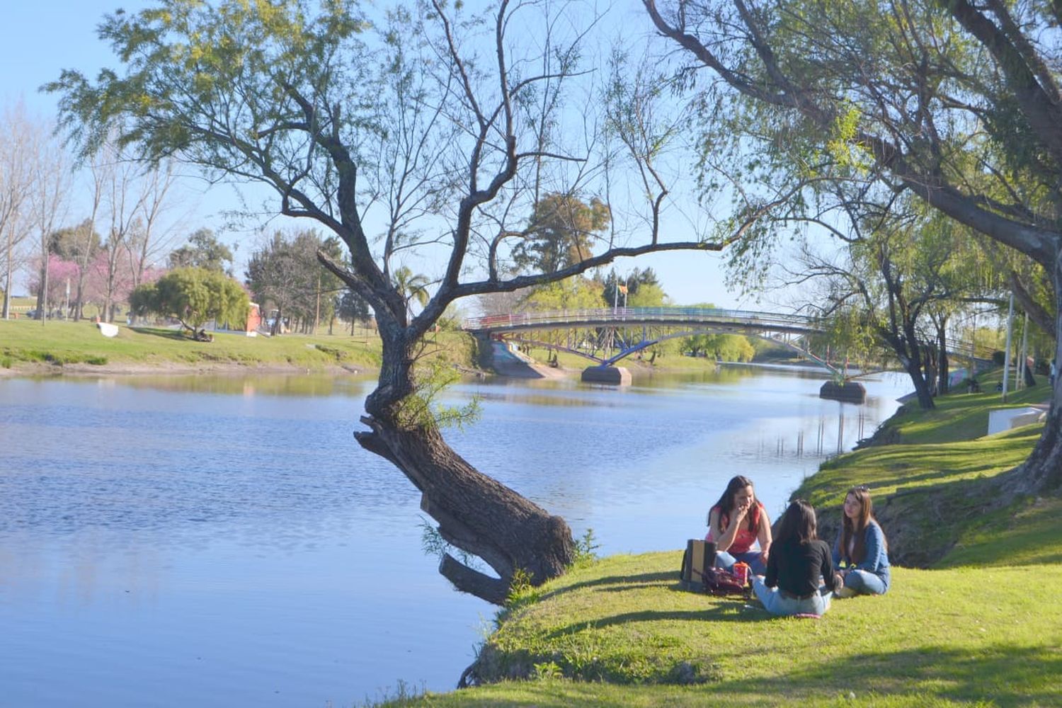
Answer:
<svg viewBox="0 0 1062 708"><path fill-rule="evenodd" d="M738 560L749 564L754 573L767 569L771 549L771 520L756 500L752 480L738 474L708 512L708 535L704 540L716 545L716 567L730 569ZM752 545L759 541L759 551Z"/></svg>

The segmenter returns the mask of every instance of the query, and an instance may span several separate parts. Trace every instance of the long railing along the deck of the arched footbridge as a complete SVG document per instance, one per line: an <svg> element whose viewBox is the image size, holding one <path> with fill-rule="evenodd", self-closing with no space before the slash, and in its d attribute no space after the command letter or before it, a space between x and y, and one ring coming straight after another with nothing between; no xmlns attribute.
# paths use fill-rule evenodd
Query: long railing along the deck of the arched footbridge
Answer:
<svg viewBox="0 0 1062 708"><path fill-rule="evenodd" d="M470 331L542 327L546 325L579 324L622 324L647 322L712 322L735 325L756 325L763 328L800 327L818 329L817 323L805 315L754 312L747 310L721 310L717 308L596 308L585 310L562 310L559 312L513 312L483 317L468 317L462 328Z"/></svg>

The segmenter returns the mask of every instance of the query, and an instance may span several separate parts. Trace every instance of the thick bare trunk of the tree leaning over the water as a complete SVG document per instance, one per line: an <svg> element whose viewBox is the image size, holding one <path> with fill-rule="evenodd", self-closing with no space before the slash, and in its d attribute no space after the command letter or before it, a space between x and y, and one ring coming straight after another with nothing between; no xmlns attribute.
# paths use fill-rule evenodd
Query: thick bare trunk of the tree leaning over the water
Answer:
<svg viewBox="0 0 1062 708"><path fill-rule="evenodd" d="M379 385L365 400L361 420L371 431L355 433L366 450L391 461L421 490L421 508L439 522L450 545L482 558L498 577L464 565L449 553L439 572L459 590L502 604L514 573L532 585L556 577L575 557L571 530L559 516L478 471L431 424L401 421L401 402L415 390L412 345L405 328L381 326L383 365Z"/></svg>

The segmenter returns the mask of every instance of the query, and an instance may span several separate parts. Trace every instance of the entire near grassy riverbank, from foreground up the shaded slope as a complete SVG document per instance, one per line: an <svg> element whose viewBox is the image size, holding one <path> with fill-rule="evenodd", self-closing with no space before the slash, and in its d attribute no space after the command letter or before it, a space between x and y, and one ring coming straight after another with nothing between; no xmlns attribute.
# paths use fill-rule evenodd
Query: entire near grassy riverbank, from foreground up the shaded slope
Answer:
<svg viewBox="0 0 1062 708"><path fill-rule="evenodd" d="M1042 424L988 436L997 394L938 400L891 419L894 443L840 455L794 491L829 526L850 486L871 487L905 559L886 595L772 618L682 591L678 548L613 556L514 594L479 653L493 683L393 705L1058 705L1062 498L1000 503L997 484Z"/></svg>

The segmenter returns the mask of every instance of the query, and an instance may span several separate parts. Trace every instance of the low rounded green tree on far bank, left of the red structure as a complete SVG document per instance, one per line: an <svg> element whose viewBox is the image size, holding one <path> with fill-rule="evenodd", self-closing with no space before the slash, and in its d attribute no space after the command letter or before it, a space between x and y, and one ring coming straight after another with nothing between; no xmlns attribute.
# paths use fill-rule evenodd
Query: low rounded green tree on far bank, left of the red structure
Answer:
<svg viewBox="0 0 1062 708"><path fill-rule="evenodd" d="M176 317L192 339L207 341L203 325L243 323L250 299L240 283L224 273L202 267L178 267L155 282L137 286L130 295L134 314Z"/></svg>

